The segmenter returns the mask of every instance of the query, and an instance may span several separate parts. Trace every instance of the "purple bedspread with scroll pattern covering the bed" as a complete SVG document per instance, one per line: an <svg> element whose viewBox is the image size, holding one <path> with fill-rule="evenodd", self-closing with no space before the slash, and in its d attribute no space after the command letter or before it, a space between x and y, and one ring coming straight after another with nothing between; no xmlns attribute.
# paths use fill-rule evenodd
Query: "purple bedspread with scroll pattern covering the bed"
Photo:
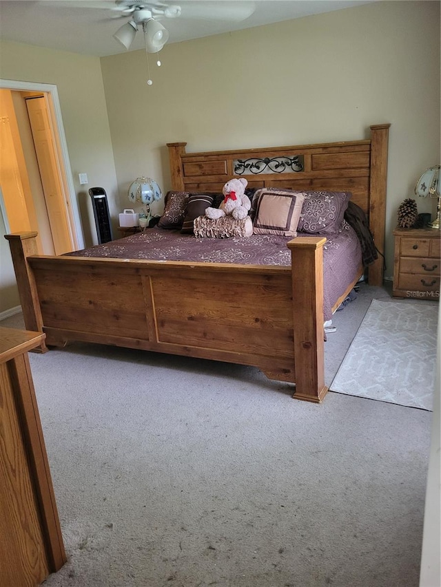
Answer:
<svg viewBox="0 0 441 587"><path fill-rule="evenodd" d="M314 236L302 235L301 236ZM291 265L287 242L291 237L252 235L228 239L197 239L164 228L149 228L144 233L85 248L68 255L113 259L151 259L154 261L194 261L237 263L242 265ZM324 318L358 275L361 247L353 228L346 222L336 235L327 235L323 251Z"/></svg>

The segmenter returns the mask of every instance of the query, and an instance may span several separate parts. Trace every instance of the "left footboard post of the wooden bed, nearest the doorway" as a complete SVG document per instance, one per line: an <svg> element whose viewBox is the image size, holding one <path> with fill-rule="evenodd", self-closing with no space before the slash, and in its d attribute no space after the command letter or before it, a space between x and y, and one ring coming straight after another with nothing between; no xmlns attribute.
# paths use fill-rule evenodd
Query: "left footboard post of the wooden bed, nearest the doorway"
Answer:
<svg viewBox="0 0 441 587"><path fill-rule="evenodd" d="M43 332L43 318L41 317L37 286L32 268L26 259L30 255L38 255L37 233L14 233L5 235L5 238L9 241L25 328L33 332ZM34 349L35 352L46 352L47 350L48 347L44 341Z"/></svg>

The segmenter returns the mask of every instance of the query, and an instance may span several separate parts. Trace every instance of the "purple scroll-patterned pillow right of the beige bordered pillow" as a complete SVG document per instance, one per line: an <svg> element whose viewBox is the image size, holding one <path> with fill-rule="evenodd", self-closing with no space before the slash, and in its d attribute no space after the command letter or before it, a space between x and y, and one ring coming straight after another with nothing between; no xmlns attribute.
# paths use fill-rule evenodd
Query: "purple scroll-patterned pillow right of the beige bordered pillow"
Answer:
<svg viewBox="0 0 441 587"><path fill-rule="evenodd" d="M347 204L349 191L305 191L298 231L319 235L338 233Z"/></svg>

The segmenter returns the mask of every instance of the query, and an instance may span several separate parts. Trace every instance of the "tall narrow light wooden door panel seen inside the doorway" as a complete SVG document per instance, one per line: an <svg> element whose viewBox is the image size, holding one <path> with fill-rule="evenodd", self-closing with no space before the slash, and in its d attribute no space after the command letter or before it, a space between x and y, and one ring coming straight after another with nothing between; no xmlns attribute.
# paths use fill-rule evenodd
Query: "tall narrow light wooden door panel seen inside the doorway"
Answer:
<svg viewBox="0 0 441 587"><path fill-rule="evenodd" d="M54 250L56 255L62 255L72 250L72 236L65 210L66 202L59 178L56 149L54 148L45 98L43 96L26 98L26 107L39 164Z"/></svg>

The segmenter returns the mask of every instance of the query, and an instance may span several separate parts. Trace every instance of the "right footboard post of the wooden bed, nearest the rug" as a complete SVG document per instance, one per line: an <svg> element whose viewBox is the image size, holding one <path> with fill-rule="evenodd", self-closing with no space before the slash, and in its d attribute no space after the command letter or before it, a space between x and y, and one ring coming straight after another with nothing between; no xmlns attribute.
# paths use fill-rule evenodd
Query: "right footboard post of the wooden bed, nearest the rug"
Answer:
<svg viewBox="0 0 441 587"><path fill-rule="evenodd" d="M291 250L292 304L294 312L294 364L296 391L293 397L320 403L325 386L323 330L323 245L325 237L297 237Z"/></svg>

